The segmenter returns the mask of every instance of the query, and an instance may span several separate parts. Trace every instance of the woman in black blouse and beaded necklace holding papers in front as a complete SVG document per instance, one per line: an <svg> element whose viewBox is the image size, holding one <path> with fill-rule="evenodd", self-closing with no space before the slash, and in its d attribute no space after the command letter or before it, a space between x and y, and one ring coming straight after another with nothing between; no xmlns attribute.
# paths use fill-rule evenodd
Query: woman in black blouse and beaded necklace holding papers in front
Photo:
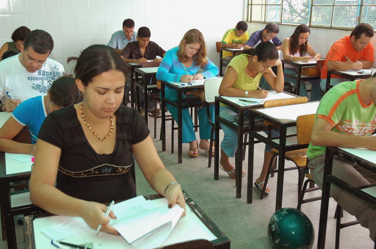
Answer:
<svg viewBox="0 0 376 249"><path fill-rule="evenodd" d="M68 62L74 59L84 100L43 122L30 178L32 202L53 214L82 217L94 229L107 224L107 207L100 202L136 194L129 172L133 153L169 207L176 203L185 208L180 186L159 158L144 119L135 109L120 106L126 77L120 56L108 46L91 45ZM115 219L112 212L110 217ZM117 233L109 225L102 230Z"/></svg>

